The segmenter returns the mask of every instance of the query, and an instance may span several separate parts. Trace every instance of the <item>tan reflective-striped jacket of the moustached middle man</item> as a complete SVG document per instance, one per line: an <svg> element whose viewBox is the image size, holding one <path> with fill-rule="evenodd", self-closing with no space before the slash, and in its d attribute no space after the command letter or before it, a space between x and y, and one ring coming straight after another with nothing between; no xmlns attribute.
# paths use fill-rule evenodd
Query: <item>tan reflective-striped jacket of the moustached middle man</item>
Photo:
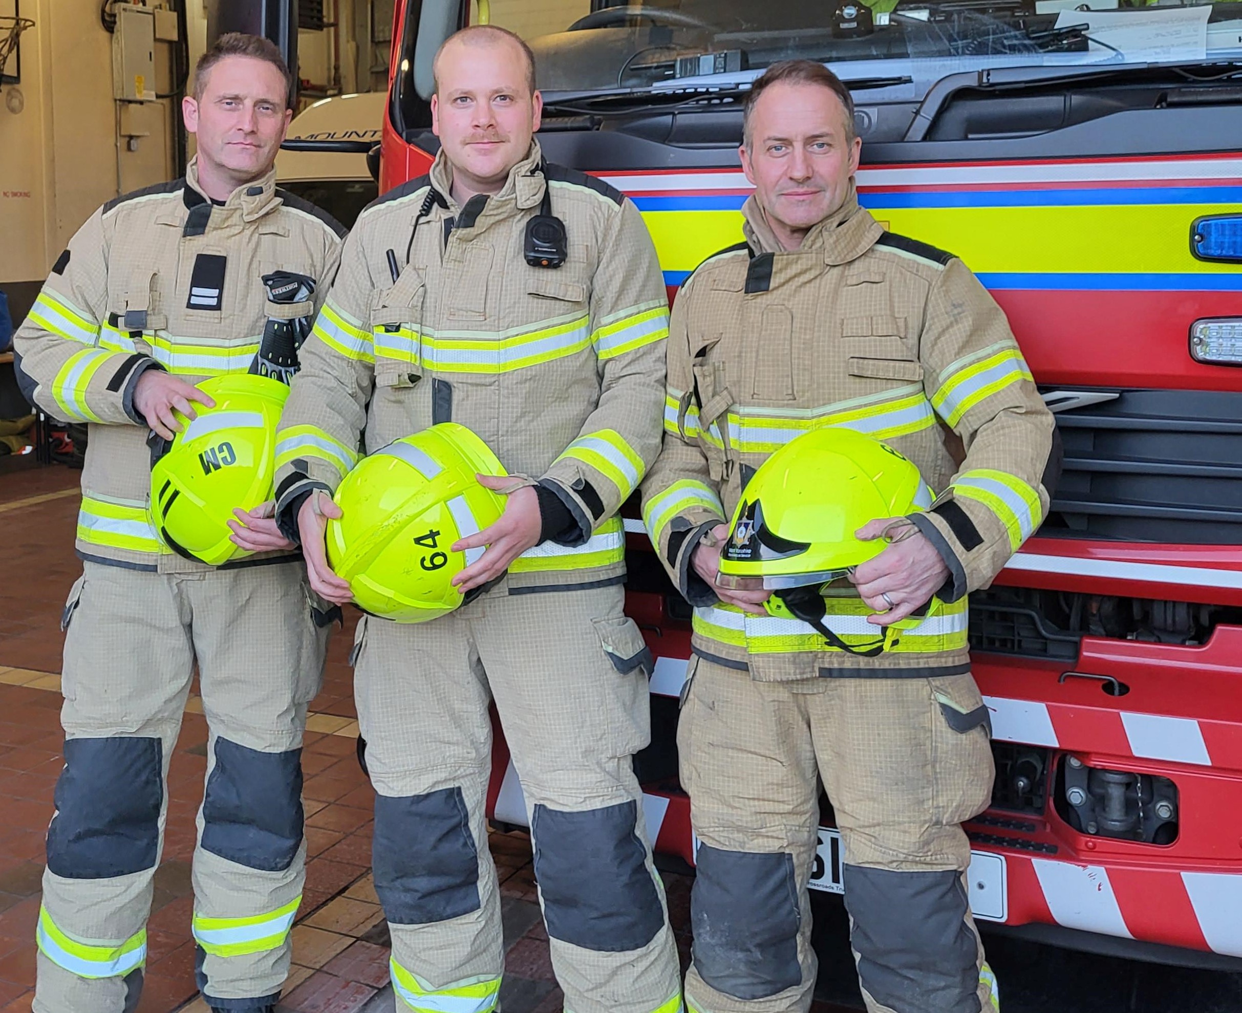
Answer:
<svg viewBox="0 0 1242 1013"><path fill-rule="evenodd" d="M578 524L514 560L510 591L620 581L616 511L662 436L668 302L651 237L622 194L543 165L538 143L492 196L462 207L451 184L441 153L358 217L281 420L277 510L335 489L360 451L460 422ZM545 185L560 268L523 256Z"/></svg>

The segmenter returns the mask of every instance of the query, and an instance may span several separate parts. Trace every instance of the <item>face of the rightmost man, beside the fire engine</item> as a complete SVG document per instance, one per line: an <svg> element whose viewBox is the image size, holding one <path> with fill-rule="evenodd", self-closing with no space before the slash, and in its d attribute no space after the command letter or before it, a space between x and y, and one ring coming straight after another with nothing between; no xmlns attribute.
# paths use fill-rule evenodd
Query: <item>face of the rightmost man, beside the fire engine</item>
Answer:
<svg viewBox="0 0 1242 1013"><path fill-rule="evenodd" d="M848 137L845 104L820 84L773 84L751 109L741 168L786 246L845 202L862 149Z"/></svg>

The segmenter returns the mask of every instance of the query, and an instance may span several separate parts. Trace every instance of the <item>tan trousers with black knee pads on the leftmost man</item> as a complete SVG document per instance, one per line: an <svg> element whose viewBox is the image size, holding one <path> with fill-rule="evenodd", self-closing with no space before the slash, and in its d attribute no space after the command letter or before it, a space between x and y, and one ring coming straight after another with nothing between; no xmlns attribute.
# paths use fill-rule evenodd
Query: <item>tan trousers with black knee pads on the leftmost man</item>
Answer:
<svg viewBox="0 0 1242 1013"><path fill-rule="evenodd" d="M47 833L37 1013L137 1007L195 664L210 729L193 863L199 986L231 1011L276 1001L304 879L301 746L323 621L299 560L178 575L84 564L65 613L66 766Z"/></svg>

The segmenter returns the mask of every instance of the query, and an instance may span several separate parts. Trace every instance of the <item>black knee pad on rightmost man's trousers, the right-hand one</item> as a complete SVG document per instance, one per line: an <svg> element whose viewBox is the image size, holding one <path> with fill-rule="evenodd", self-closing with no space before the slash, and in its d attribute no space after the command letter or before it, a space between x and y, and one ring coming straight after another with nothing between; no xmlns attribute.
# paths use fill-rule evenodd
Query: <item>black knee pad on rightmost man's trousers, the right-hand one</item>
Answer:
<svg viewBox="0 0 1242 1013"><path fill-rule="evenodd" d="M979 946L961 873L846 865L858 979L897 1013L979 1013Z"/></svg>

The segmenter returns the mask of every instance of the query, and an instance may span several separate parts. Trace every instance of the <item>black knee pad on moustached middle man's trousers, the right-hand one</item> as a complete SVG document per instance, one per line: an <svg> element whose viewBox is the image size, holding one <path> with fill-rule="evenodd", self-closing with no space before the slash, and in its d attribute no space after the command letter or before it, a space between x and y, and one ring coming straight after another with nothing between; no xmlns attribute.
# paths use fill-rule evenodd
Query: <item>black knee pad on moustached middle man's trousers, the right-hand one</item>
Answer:
<svg viewBox="0 0 1242 1013"><path fill-rule="evenodd" d="M548 935L584 950L641 950L664 924L635 829L636 802L563 812L535 806L530 832Z"/></svg>

